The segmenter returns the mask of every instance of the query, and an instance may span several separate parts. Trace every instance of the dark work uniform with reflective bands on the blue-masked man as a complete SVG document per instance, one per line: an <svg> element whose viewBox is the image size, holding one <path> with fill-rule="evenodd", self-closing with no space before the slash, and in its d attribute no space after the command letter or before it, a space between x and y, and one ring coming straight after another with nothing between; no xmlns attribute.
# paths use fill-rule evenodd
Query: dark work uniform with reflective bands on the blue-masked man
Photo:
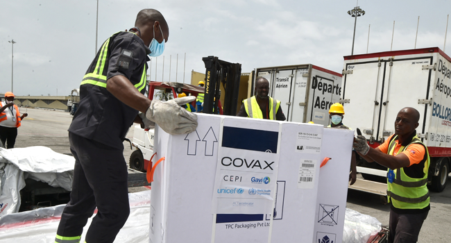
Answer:
<svg viewBox="0 0 451 243"><path fill-rule="evenodd" d="M97 215L86 234L88 243L113 242L128 218L123 141L138 111L108 92L106 81L125 76L144 95L148 53L137 35L119 32L103 43L87 69L78 110L69 126L71 152L76 159L74 181L56 242L76 242L96 207Z"/></svg>

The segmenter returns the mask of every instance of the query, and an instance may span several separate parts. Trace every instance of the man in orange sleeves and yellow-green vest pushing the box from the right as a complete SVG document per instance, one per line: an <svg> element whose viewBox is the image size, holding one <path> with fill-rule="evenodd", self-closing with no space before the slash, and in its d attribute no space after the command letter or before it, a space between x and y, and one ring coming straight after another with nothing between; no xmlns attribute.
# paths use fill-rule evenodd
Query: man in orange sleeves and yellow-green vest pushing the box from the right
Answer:
<svg viewBox="0 0 451 243"><path fill-rule="evenodd" d="M416 136L420 113L402 108L395 119L395 134L376 149L358 135L354 148L368 162L388 167L387 195L391 204L389 242L417 242L429 212L427 171L429 153Z"/></svg>

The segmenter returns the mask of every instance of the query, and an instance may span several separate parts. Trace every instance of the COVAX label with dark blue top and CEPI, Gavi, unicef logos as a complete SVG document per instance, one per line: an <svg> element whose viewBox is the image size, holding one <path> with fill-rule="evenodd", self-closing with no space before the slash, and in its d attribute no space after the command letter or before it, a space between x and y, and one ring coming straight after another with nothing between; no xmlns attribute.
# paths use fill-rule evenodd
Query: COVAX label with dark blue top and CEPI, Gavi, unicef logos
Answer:
<svg viewBox="0 0 451 243"><path fill-rule="evenodd" d="M247 119L223 119L213 191L214 214L273 211L279 129L276 122L259 124L256 129L249 127Z"/></svg>

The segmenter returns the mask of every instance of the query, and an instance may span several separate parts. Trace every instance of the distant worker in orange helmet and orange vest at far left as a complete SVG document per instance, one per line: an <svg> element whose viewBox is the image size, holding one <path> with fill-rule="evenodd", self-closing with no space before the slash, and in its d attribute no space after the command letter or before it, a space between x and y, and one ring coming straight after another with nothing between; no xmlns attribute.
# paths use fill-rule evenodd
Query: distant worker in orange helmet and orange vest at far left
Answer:
<svg viewBox="0 0 451 243"><path fill-rule="evenodd" d="M8 149L14 148L17 137L17 128L21 126L22 119L28 116L20 115L19 108L14 103L15 95L12 92L5 93L5 101L0 102L0 140Z"/></svg>

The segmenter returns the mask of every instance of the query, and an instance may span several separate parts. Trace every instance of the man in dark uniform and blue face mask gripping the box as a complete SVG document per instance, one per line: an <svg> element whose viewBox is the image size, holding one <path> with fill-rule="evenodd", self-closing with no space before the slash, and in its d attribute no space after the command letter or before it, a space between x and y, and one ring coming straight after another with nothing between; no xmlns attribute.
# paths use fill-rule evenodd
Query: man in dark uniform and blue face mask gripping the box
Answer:
<svg viewBox="0 0 451 243"><path fill-rule="evenodd" d="M145 128L156 123L170 134L196 129L196 115L180 107L196 97L162 102L144 96L148 56L160 56L168 38L163 15L155 9L141 10L135 26L103 42L88 67L69 126L74 181L55 242L80 242L96 208L85 242L113 242L124 226L130 207L123 142L134 121Z"/></svg>

